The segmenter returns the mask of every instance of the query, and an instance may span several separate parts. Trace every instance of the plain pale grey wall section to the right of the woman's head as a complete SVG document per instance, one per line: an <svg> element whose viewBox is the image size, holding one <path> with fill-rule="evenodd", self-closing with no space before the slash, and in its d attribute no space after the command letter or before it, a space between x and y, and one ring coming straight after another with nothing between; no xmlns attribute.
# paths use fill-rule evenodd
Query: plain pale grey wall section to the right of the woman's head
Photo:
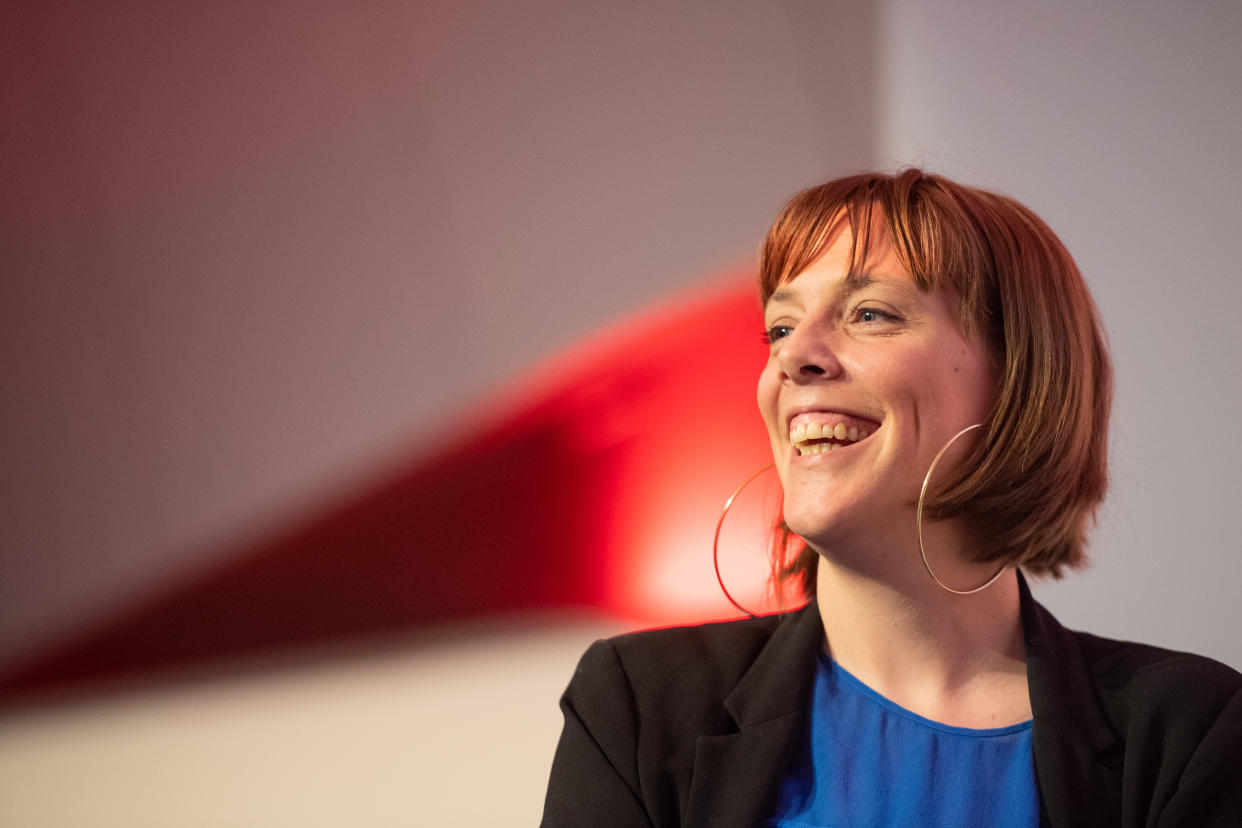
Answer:
<svg viewBox="0 0 1242 828"><path fill-rule="evenodd" d="M881 31L878 155L1033 207L1110 334L1094 565L1036 593L1242 668L1242 5L889 0Z"/></svg>

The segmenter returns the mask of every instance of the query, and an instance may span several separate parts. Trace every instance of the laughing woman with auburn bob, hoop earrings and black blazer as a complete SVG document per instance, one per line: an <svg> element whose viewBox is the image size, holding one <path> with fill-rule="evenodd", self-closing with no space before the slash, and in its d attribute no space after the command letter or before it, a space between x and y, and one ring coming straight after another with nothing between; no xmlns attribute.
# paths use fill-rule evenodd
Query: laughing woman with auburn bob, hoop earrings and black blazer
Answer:
<svg viewBox="0 0 1242 828"><path fill-rule="evenodd" d="M1242 826L1242 675L1069 632L1020 574L1082 565L1105 489L1110 365L1047 226L840 179L760 294L774 572L809 603L596 642L544 824Z"/></svg>

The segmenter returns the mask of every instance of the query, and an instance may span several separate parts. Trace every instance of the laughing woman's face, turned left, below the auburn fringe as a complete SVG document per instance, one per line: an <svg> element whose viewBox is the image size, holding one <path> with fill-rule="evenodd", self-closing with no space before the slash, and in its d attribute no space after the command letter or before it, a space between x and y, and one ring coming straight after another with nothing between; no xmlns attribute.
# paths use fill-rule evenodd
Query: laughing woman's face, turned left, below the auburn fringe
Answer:
<svg viewBox="0 0 1242 828"><path fill-rule="evenodd" d="M850 248L842 222L764 310L771 354L759 410L785 521L820 551L913 534L932 459L986 418L997 387L982 344L958 329L953 294L919 290L883 232L872 233L859 276L848 279Z"/></svg>

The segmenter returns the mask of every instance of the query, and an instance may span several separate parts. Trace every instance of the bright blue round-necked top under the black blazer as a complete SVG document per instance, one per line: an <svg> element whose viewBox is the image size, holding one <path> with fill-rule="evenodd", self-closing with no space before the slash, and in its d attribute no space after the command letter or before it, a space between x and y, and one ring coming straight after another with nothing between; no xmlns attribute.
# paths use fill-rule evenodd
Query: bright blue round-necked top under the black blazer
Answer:
<svg viewBox="0 0 1242 828"><path fill-rule="evenodd" d="M1031 721L941 725L825 657L807 719L769 828L1040 824Z"/></svg>

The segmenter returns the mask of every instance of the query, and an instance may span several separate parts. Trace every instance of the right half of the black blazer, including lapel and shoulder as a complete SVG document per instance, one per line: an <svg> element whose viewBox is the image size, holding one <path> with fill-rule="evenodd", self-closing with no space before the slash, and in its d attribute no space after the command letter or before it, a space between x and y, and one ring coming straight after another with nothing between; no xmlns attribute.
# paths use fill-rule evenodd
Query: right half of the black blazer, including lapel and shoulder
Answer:
<svg viewBox="0 0 1242 828"><path fill-rule="evenodd" d="M1025 601L1041 797L1097 823L1242 824L1242 674L1062 627ZM1094 809L1094 811L1093 811Z"/></svg>

